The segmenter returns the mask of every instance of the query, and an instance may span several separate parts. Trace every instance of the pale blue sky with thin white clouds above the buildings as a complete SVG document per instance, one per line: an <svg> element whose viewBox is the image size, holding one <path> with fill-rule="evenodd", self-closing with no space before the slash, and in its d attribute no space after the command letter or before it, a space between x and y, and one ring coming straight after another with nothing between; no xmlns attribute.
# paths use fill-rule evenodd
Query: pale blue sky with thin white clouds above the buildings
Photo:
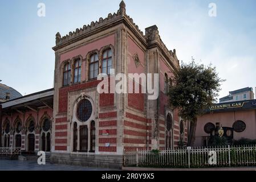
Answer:
<svg viewBox="0 0 256 182"><path fill-rule="evenodd" d="M44 3L46 16L38 16ZM50 89L54 83L55 34L106 18L120 0L11 0L0 6L0 80L22 95ZM168 49L180 61L216 67L229 91L256 87L256 1L126 0L126 13L141 31L156 24ZM210 3L216 16L209 16Z"/></svg>

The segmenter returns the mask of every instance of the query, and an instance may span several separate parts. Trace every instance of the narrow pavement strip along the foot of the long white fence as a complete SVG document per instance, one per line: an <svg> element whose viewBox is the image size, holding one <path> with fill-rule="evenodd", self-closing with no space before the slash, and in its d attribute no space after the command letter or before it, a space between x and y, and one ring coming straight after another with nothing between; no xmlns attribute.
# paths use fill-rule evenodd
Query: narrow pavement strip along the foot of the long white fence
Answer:
<svg viewBox="0 0 256 182"><path fill-rule="evenodd" d="M256 171L256 167L222 167L222 168L144 168L123 167L124 171Z"/></svg>

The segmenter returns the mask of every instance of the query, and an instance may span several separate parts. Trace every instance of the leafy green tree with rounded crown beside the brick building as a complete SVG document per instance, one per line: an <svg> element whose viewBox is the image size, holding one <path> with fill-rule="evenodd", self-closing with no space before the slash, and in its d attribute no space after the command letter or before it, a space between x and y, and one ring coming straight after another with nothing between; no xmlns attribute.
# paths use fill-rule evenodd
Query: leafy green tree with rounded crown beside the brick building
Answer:
<svg viewBox="0 0 256 182"><path fill-rule="evenodd" d="M223 81L216 67L196 64L194 60L181 63L180 69L174 71L170 79L169 105L179 110L182 119L190 121L188 146L194 143L197 118L216 101Z"/></svg>

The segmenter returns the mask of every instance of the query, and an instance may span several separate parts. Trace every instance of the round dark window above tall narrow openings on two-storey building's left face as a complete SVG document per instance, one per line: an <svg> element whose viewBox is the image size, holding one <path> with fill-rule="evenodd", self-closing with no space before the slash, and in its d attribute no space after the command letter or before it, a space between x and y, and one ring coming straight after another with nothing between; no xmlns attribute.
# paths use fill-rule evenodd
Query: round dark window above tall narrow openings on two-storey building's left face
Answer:
<svg viewBox="0 0 256 182"><path fill-rule="evenodd" d="M92 115L92 104L89 100L84 99L79 102L78 108L76 110L76 115L78 119L82 122L88 121Z"/></svg>

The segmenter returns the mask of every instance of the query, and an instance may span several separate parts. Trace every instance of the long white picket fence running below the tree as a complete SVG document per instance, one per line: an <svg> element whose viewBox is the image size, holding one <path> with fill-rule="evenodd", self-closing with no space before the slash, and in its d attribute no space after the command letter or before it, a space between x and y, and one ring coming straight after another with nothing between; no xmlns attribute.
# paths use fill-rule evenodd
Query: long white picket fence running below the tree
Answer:
<svg viewBox="0 0 256 182"><path fill-rule="evenodd" d="M124 166L230 167L256 166L256 146L186 147L170 150L124 150Z"/></svg>

